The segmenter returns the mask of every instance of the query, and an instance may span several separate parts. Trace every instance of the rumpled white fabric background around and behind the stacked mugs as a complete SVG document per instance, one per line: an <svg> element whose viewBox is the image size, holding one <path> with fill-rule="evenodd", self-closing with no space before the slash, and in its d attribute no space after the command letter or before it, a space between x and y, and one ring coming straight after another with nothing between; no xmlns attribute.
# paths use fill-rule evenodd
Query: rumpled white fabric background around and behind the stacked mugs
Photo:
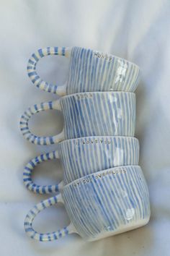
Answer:
<svg viewBox="0 0 170 256"><path fill-rule="evenodd" d="M170 2L169 0L0 1L0 253L37 255L169 255L170 249ZM45 199L22 184L24 164L56 146L40 147L24 140L19 117L33 103L56 95L32 86L27 59L45 46L84 46L134 61L141 68L137 95L136 137L140 140L140 166L151 194L151 221L143 228L87 243L71 235L55 242L27 238L24 216ZM68 61L53 56L38 64L43 78L65 82ZM58 117L59 115L59 117ZM32 118L41 135L62 129L55 111ZM47 171L48 170L48 171ZM45 182L46 179L46 182ZM36 168L35 181L62 179L59 161ZM53 231L69 223L64 208L45 210L35 220L39 231Z"/></svg>

